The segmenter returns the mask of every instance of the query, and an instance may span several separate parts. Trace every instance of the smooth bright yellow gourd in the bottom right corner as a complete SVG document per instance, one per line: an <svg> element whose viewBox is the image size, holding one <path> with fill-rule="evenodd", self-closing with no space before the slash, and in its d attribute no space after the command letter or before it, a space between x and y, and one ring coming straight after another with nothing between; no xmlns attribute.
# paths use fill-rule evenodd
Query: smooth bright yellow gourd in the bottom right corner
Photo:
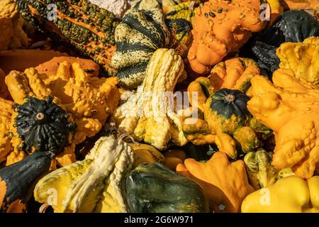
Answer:
<svg viewBox="0 0 319 227"><path fill-rule="evenodd" d="M242 201L242 213L318 213L318 198L319 176L290 176L249 194Z"/></svg>

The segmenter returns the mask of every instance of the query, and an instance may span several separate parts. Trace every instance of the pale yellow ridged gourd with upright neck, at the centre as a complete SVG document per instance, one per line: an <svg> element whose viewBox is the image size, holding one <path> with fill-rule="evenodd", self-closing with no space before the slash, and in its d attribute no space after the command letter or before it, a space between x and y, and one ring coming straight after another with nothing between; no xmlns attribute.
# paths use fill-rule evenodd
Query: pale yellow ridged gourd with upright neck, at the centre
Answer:
<svg viewBox="0 0 319 227"><path fill-rule="evenodd" d="M187 143L182 120L174 113L172 95L184 70L181 57L172 49L161 48L147 66L145 79L134 96L114 112L111 121L120 133L133 135L159 150Z"/></svg>

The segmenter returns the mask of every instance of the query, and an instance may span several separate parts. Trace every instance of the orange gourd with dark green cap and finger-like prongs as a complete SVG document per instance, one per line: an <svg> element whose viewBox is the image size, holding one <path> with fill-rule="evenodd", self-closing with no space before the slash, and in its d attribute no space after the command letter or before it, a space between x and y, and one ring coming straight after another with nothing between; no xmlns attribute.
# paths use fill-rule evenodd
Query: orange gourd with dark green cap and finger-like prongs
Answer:
<svg viewBox="0 0 319 227"><path fill-rule="evenodd" d="M248 100L247 95L232 89L211 94L204 106L203 119L184 120L185 137L195 145L216 143L232 159L237 158L238 149L248 153L258 148L257 132L269 135L271 131L252 118L247 110Z"/></svg>

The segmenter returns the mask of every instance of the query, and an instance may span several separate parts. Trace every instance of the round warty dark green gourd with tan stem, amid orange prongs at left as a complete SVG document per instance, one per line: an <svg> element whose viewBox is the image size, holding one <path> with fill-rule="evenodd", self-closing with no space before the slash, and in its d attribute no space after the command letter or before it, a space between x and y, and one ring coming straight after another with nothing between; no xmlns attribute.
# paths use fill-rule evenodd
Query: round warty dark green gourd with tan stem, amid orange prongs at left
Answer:
<svg viewBox="0 0 319 227"><path fill-rule="evenodd" d="M28 97L21 105L14 105L18 116L15 126L23 140L21 150L60 153L68 145L69 133L74 131L74 124L69 123L68 114L52 102Z"/></svg>

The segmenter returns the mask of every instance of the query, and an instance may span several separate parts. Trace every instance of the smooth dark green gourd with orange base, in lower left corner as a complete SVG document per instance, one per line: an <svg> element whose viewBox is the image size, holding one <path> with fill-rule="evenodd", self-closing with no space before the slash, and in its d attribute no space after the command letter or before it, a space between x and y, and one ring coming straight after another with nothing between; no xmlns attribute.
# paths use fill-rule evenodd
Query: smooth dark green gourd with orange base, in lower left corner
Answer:
<svg viewBox="0 0 319 227"><path fill-rule="evenodd" d="M0 170L0 212L26 211L26 203L38 180L50 168L52 153L35 152L21 162Z"/></svg>

